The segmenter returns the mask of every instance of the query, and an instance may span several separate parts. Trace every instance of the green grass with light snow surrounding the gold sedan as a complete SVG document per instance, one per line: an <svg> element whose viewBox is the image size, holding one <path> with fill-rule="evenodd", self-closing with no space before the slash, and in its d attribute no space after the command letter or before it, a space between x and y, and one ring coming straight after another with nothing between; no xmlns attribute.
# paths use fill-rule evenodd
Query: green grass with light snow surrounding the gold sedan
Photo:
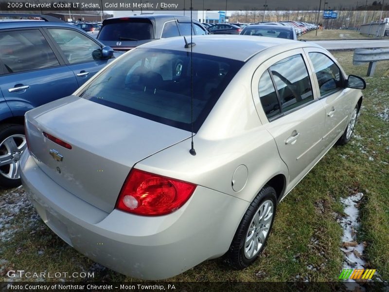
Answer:
<svg viewBox="0 0 389 292"><path fill-rule="evenodd" d="M347 73L364 76L367 65L353 66L352 54L334 55ZM336 220L343 212L339 201L356 192L365 194L359 241L367 243L366 260L381 279L389 280L389 79L383 77L388 68L389 62L379 62L374 77L366 77L368 87L352 141L332 148L279 205L259 260L243 271L231 270L222 259L210 260L169 280L336 281L343 261L339 250L342 229ZM134 281L95 264L59 239L37 219L22 188L11 194L0 189L0 194L1 218L8 218L0 219L0 234L6 232L0 245L2 280L7 279L8 270L18 269L89 271L95 272L96 281Z"/></svg>

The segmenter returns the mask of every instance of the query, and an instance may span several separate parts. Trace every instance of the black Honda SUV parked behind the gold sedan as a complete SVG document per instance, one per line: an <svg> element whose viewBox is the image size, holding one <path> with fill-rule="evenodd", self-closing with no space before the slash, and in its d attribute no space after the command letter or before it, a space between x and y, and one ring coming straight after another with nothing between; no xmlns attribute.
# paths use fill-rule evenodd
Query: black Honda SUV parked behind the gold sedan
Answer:
<svg viewBox="0 0 389 292"><path fill-rule="evenodd" d="M152 14L122 18L108 18L97 39L115 51L128 51L141 44L166 37L207 35L207 29L198 21L185 16Z"/></svg>

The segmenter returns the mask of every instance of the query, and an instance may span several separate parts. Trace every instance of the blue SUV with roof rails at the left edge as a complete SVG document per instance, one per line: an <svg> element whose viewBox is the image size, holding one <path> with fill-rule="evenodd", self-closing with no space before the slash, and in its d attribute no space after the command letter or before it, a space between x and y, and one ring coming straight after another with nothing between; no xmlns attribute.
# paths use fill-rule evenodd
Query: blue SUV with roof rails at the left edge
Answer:
<svg viewBox="0 0 389 292"><path fill-rule="evenodd" d="M23 16L41 20L15 19ZM20 184L24 113L71 94L107 64L113 51L58 18L0 18L13 18L0 22L0 185L9 187Z"/></svg>

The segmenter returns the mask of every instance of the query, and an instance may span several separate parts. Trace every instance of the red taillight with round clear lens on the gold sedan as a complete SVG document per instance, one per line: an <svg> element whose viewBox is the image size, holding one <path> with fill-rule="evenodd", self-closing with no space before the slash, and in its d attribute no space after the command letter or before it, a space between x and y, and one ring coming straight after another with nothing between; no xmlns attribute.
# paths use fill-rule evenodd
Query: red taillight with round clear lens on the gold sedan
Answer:
<svg viewBox="0 0 389 292"><path fill-rule="evenodd" d="M119 194L116 208L143 216L160 216L180 208L196 185L138 169L131 170Z"/></svg>

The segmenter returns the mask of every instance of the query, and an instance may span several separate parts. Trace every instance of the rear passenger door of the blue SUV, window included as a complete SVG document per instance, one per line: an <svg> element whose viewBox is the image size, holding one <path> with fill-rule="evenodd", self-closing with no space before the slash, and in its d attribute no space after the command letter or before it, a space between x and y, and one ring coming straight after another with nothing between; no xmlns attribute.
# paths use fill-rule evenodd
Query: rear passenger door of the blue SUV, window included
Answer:
<svg viewBox="0 0 389 292"><path fill-rule="evenodd" d="M1 31L0 59L0 90L14 116L78 88L74 74L38 28Z"/></svg>

